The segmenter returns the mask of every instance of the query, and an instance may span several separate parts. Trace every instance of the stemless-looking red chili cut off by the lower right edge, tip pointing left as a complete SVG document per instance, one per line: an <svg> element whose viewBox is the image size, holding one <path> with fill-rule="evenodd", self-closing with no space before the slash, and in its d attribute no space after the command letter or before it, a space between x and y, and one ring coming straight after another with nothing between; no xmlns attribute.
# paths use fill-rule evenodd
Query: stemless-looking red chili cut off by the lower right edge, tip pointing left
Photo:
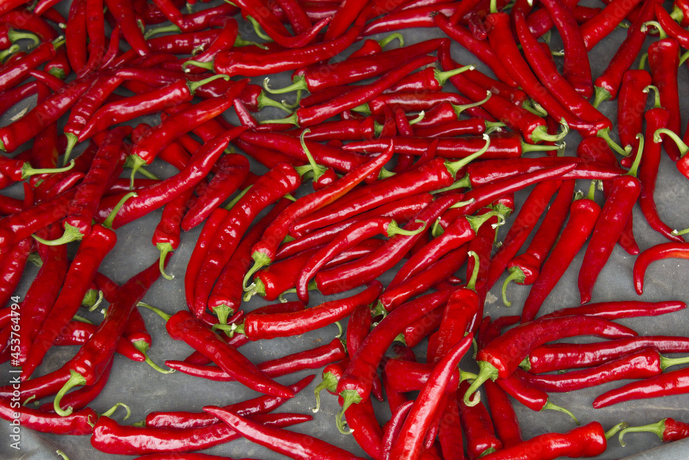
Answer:
<svg viewBox="0 0 689 460"><path fill-rule="evenodd" d="M596 409L612 406L613 404L633 401L634 399L648 399L685 394L689 392L689 368L673 370L665 374L650 377L641 381L627 383L624 386L609 390L593 400Z"/></svg>

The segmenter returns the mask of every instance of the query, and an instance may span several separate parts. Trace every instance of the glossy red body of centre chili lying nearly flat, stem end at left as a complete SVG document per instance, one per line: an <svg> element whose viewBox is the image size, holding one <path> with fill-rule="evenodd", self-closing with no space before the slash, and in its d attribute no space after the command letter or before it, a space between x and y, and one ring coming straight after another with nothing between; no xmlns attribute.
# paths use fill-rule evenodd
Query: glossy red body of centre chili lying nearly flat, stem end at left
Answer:
<svg viewBox="0 0 689 460"><path fill-rule="evenodd" d="M250 340L291 337L327 326L335 321L348 317L360 305L373 303L382 292L378 281L369 283L369 287L348 299L328 301L320 306L293 313L247 314L244 321L244 332Z"/></svg>

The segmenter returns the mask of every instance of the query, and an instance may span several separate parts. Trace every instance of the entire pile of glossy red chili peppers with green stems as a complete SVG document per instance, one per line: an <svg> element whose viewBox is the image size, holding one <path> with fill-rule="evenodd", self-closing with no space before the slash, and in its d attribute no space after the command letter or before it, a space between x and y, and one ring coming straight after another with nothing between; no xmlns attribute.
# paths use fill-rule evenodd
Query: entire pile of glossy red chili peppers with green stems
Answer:
<svg viewBox="0 0 689 460"><path fill-rule="evenodd" d="M595 410L573 414L557 393L617 383L595 409L689 393L689 368L667 371L689 363L689 337L617 322L681 314L672 297L686 292L610 301L597 283L618 244L639 295L651 263L689 259L689 230L654 197L661 161L689 179L687 26L686 0L1 2L3 432L85 435L141 459L227 458L191 452L240 437L294 459L362 458L285 429L314 418L376 460L594 457L618 432L688 437L668 417L524 439L515 408L578 425ZM438 38L409 44L406 30ZM600 75L596 46L614 50ZM177 172L152 172L165 168ZM633 214L662 242L642 251ZM107 260L151 217L160 257L120 285ZM581 306L544 314L573 269L579 298L559 303ZM144 303L172 283L161 275L183 275L186 308ZM498 281L511 310L486 306ZM521 305L511 281L531 286ZM191 348L165 366L147 354L161 318ZM258 363L242 350L309 333L325 344ZM48 368L59 346L78 348ZM115 354L257 395L125 425L112 418L125 403L90 407L111 372L145 366ZM308 370L322 379L291 375ZM313 412L325 389L335 419L273 412L312 381Z"/></svg>

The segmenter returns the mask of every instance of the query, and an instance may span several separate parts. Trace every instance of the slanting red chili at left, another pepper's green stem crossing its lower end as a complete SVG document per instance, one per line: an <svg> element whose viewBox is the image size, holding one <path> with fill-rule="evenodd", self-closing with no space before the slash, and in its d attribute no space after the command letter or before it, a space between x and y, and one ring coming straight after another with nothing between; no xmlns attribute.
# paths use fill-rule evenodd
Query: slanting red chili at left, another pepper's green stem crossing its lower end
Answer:
<svg viewBox="0 0 689 460"><path fill-rule="evenodd" d="M149 188L139 190L138 196L124 203L112 222L112 228L119 228L126 223L164 206L179 194L184 193L207 176L216 159L222 154L230 140L237 137L245 128L238 127L227 130L212 141L205 143L203 148L194 152L187 167L173 177L160 181ZM121 196L112 195L101 201L96 220L102 220L112 212L115 203Z"/></svg>

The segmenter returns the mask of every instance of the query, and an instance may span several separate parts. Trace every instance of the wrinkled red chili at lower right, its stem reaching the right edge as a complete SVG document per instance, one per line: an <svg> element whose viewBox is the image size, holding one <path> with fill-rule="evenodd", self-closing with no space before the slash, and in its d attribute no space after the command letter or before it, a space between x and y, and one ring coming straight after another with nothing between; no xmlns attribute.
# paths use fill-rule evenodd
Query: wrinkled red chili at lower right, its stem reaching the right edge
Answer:
<svg viewBox="0 0 689 460"><path fill-rule="evenodd" d="M568 392L621 379L648 379L662 374L670 366L687 361L687 358L666 358L653 348L644 348L584 370L548 375L522 372L521 375L524 375L530 385L540 390Z"/></svg>

